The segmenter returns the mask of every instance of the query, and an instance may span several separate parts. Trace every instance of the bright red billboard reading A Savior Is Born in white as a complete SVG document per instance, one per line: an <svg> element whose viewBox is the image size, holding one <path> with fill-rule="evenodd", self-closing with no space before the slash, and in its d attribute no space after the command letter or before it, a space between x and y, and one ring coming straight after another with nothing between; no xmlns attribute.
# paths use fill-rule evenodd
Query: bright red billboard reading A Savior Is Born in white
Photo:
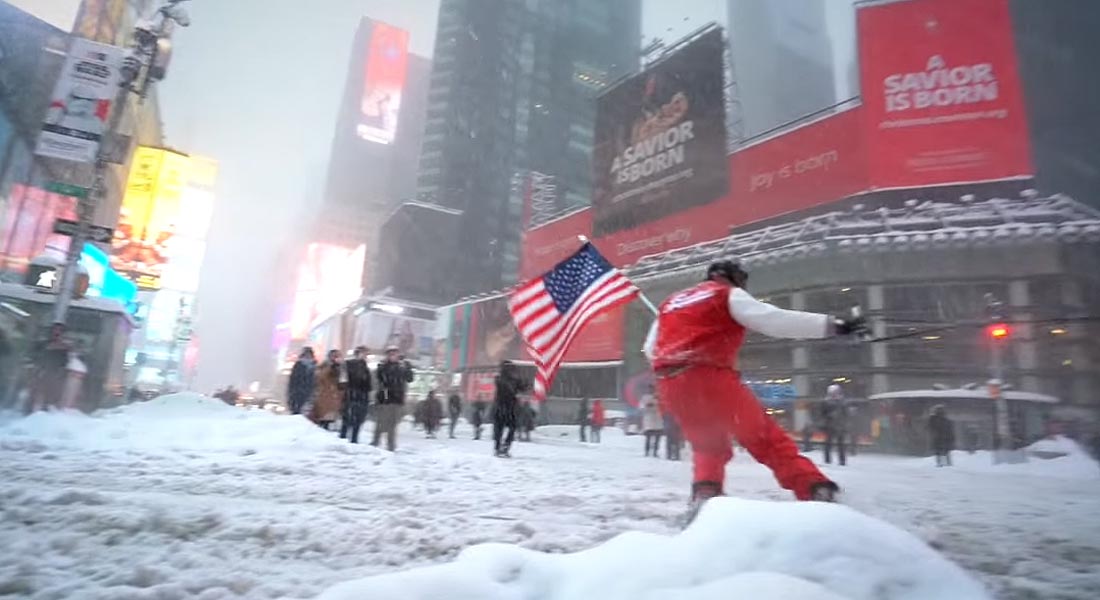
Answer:
<svg viewBox="0 0 1100 600"><path fill-rule="evenodd" d="M860 7L876 188L1033 174L1008 0Z"/></svg>

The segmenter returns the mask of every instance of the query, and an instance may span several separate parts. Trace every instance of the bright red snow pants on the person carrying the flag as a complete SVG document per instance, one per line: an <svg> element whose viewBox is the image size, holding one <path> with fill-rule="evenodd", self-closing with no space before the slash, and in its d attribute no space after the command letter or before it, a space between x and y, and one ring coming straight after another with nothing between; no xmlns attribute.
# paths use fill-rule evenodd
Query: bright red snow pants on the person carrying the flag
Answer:
<svg viewBox="0 0 1100 600"><path fill-rule="evenodd" d="M669 369L658 373L657 393L661 408L676 418L691 443L696 483L724 484L726 463L734 457L730 438L771 469L779 484L799 500L810 500L811 488L828 481L799 454L737 371L704 366Z"/></svg>

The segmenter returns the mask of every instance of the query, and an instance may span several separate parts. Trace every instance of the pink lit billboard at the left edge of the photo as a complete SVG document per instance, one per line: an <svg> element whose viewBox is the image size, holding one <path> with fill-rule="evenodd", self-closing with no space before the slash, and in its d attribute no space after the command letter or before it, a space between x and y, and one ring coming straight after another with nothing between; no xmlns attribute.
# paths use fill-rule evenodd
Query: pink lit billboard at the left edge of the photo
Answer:
<svg viewBox="0 0 1100 600"><path fill-rule="evenodd" d="M76 219L76 198L40 187L12 185L0 230L3 269L23 271L31 259L47 250L55 257L64 257L69 238L54 233L54 221L59 218Z"/></svg>

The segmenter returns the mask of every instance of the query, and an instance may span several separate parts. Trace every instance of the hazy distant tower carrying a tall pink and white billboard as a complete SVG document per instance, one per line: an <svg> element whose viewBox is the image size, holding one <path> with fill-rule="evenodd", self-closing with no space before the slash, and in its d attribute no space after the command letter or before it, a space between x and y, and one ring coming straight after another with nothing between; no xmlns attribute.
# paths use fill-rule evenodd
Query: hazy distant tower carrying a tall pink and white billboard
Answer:
<svg viewBox="0 0 1100 600"><path fill-rule="evenodd" d="M408 32L364 18L352 43L314 241L366 244L370 279L377 227L416 189L431 63L408 53Z"/></svg>

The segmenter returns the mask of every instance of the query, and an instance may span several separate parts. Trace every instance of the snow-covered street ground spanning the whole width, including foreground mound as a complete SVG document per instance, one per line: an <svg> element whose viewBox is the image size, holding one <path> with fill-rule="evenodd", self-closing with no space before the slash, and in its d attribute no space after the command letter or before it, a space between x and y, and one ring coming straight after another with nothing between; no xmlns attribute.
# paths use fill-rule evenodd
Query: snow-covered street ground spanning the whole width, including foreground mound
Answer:
<svg viewBox="0 0 1100 600"><path fill-rule="evenodd" d="M460 430L403 432L391 455L194 396L0 422L0 597L480 589L463 581L515 583L465 596L486 599L534 598L531 582L554 599L980 597L963 571L864 515L915 534L997 598L1100 597L1100 467L1078 455L993 468L956 452L952 469L859 455L827 469L855 511L728 500L678 535L689 465L640 456L639 437L605 430L604 444L580 445L547 429L501 460ZM728 489L789 500L744 455Z"/></svg>

